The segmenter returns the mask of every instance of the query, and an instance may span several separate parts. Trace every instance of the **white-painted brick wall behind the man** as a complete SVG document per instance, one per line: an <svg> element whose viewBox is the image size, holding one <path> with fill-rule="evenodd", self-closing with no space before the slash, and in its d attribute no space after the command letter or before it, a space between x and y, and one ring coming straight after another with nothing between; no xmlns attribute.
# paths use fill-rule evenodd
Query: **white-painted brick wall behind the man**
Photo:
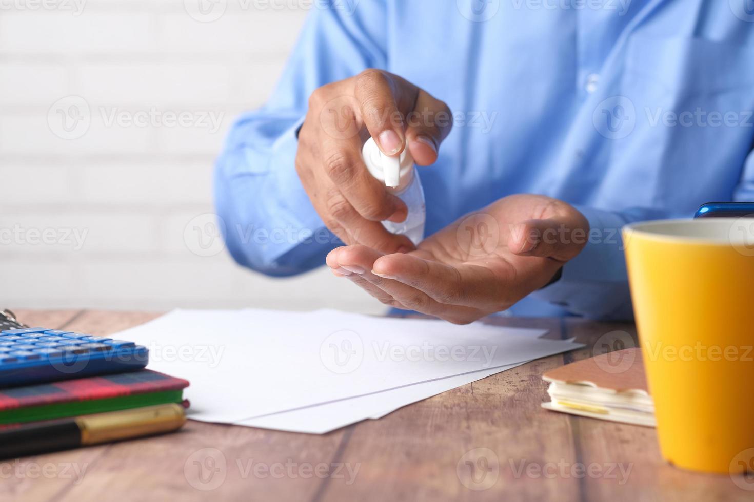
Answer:
<svg viewBox="0 0 754 502"><path fill-rule="evenodd" d="M212 163L228 127L265 101L307 14L217 0L225 13L199 22L188 12L200 1L213 5L3 5L0 306L383 311L323 269L270 279L238 268L225 251L199 257L186 247L186 225L213 211ZM63 123L55 111L48 123L67 96L90 111L86 132L73 129L71 139L53 130ZM109 123L114 110L152 108L211 112L219 129Z"/></svg>

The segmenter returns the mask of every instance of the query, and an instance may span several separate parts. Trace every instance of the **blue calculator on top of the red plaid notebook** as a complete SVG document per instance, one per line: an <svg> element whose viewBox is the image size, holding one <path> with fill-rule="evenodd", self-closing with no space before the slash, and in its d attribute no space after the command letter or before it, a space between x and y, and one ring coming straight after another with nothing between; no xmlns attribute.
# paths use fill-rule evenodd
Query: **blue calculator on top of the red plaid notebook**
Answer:
<svg viewBox="0 0 754 502"><path fill-rule="evenodd" d="M149 350L125 340L45 327L0 331L0 388L140 370Z"/></svg>

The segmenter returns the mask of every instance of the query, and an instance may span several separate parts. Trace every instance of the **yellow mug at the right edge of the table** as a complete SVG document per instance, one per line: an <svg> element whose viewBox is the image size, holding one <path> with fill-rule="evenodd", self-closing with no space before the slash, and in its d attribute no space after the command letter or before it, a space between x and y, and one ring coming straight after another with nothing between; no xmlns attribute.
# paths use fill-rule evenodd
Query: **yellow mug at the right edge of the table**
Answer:
<svg viewBox="0 0 754 502"><path fill-rule="evenodd" d="M754 471L754 219L642 222L623 237L662 455Z"/></svg>

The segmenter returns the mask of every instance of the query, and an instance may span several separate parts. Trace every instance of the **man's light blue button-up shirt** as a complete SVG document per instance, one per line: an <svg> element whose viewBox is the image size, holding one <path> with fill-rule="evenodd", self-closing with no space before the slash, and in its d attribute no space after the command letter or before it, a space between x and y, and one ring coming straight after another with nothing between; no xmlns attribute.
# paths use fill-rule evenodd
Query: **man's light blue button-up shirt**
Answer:
<svg viewBox="0 0 754 502"><path fill-rule="evenodd" d="M317 87L384 68L455 114L418 168L427 232L512 193L563 199L589 243L511 312L630 318L624 224L754 200L754 11L738 3L316 0L277 89L217 161L228 250L268 275L323 265L340 242L296 175L296 129Z"/></svg>

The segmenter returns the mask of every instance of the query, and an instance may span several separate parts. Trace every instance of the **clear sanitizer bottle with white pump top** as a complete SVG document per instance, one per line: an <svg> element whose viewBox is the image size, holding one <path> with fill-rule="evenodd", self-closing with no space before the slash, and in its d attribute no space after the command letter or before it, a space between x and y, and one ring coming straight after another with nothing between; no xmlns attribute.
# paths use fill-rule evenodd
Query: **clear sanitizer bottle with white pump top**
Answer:
<svg viewBox="0 0 754 502"><path fill-rule="evenodd" d="M375 140L369 138L363 146L361 154L364 157L366 169L385 183L388 192L394 194L409 209L405 221L395 223L383 221L382 225L391 233L408 237L415 245L424 239L424 227L427 218L424 190L421 188L418 172L414 160L406 147L399 157L388 157L379 149Z"/></svg>

